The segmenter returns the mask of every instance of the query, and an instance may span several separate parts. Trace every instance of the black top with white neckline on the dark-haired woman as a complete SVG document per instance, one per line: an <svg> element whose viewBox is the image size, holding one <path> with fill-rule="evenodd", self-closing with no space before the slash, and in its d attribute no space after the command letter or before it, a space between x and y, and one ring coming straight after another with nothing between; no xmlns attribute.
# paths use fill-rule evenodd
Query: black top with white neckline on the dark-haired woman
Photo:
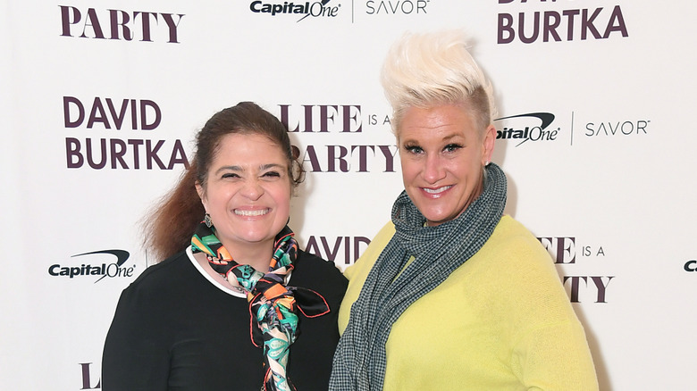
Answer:
<svg viewBox="0 0 697 391"><path fill-rule="evenodd" d="M288 285L324 296L331 312L306 318L290 345L288 376L298 391L326 390L339 341L347 280L332 262L298 252ZM102 359L105 391L258 391L263 350L252 345L247 299L215 287L185 252L145 270L123 290Z"/></svg>

